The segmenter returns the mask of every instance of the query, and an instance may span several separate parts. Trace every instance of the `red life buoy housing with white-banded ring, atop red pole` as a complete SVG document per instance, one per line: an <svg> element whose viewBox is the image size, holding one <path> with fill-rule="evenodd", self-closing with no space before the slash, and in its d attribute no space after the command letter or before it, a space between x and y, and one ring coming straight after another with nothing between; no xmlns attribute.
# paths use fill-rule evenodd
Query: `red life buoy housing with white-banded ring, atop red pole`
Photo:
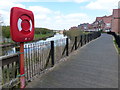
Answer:
<svg viewBox="0 0 120 90"><path fill-rule="evenodd" d="M13 7L10 13L10 33L15 42L27 42L34 38L34 15L32 11Z"/></svg>

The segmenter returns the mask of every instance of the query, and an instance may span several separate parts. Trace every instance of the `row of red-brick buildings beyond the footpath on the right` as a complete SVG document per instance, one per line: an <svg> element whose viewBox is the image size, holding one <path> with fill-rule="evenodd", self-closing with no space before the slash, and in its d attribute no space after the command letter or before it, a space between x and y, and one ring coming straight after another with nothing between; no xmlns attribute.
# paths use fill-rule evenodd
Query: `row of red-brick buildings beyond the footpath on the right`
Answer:
<svg viewBox="0 0 120 90"><path fill-rule="evenodd" d="M83 31L112 31L116 34L120 34L120 7L119 9L113 9L113 13L110 16L96 17L96 20L92 23L83 23L78 27L71 27L70 30L79 28Z"/></svg>

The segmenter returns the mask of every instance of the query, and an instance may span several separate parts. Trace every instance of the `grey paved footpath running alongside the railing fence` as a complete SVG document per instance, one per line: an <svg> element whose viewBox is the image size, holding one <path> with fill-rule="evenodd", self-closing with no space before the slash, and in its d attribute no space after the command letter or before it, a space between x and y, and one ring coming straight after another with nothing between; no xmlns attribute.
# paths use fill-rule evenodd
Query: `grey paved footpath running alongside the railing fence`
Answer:
<svg viewBox="0 0 120 90"><path fill-rule="evenodd" d="M118 54L113 37L102 34L27 88L117 88Z"/></svg>

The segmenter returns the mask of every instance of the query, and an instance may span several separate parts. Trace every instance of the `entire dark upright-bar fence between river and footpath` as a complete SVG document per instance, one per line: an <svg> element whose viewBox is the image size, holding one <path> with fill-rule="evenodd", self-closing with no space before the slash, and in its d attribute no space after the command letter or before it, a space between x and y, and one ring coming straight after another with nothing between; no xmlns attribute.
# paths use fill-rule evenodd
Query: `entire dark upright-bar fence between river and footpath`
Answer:
<svg viewBox="0 0 120 90"><path fill-rule="evenodd" d="M93 39L100 37L100 32L74 37L72 40L63 38L55 41L33 42L24 46L25 79L26 84L40 75L44 70L51 68L63 57L82 47ZM2 56L2 86L19 87L19 53Z"/></svg>

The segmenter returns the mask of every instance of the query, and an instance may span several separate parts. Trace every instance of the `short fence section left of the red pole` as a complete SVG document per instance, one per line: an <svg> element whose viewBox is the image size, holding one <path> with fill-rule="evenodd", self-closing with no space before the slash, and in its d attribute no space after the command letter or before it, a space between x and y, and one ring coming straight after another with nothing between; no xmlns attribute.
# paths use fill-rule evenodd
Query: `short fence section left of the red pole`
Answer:
<svg viewBox="0 0 120 90"><path fill-rule="evenodd" d="M3 88L18 87L19 54L0 57L0 85Z"/></svg>

